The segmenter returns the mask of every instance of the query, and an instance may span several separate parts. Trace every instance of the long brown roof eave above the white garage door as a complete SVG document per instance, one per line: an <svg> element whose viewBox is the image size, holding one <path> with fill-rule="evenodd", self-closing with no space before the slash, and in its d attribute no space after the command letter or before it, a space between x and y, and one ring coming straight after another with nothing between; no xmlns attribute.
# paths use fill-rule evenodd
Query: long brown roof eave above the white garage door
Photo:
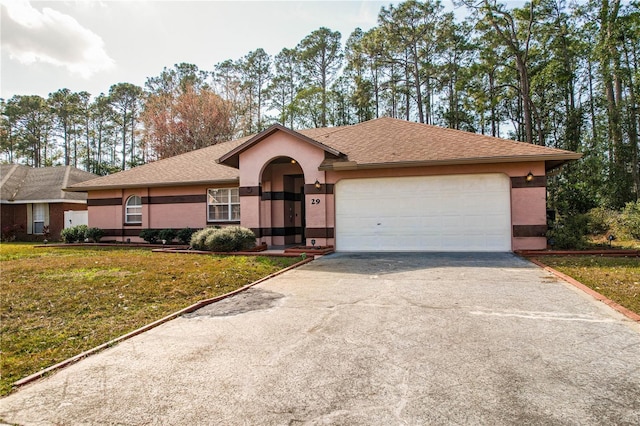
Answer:
<svg viewBox="0 0 640 426"><path fill-rule="evenodd" d="M578 160L581 157L582 157L582 154L579 154L579 153L568 153L568 154L550 154L550 155L519 155L519 156L504 156L504 157L457 158L457 159L448 159L448 160L427 160L427 161L397 161L397 162L386 162L386 163L363 163L363 164L359 164L355 161L345 161L345 162L336 161L331 164L320 166L319 170L349 171L349 170L363 170L363 169L456 166L456 165L468 165L468 164L520 163L520 162L535 162L535 161L544 161L545 163L553 162L554 166L546 169L546 170L552 170L570 161Z"/></svg>

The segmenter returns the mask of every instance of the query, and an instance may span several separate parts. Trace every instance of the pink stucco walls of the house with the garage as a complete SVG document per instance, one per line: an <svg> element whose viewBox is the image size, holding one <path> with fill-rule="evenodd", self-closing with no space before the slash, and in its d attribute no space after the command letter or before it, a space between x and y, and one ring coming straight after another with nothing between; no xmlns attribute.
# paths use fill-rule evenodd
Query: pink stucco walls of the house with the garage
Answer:
<svg viewBox="0 0 640 426"><path fill-rule="evenodd" d="M274 163L275 159L287 157L295 160L292 163ZM304 228L306 230L322 232L335 229L335 197L327 184L335 185L342 179L373 178L373 177L403 177L403 176L435 176L450 174L479 174L504 173L505 175L524 179L529 172L535 176L545 176L543 161L520 163L468 164L445 165L430 167L403 167L390 169L367 169L352 171L321 171L320 164L325 159L325 152L311 143L302 141L285 132L275 132L255 145L241 152L239 155L240 182L239 185L224 185L224 187L240 186L241 188L258 188L262 192L300 193L303 185L307 186L302 201L291 200L263 200L257 191L252 196L241 196L241 225L252 229L265 228ZM303 175L304 180L296 178ZM287 176L287 185L285 179ZM323 185L320 191L313 188L316 180ZM134 235L145 228L203 228L207 225L207 204L205 202L161 202L143 203L143 223L141 225L124 224L124 203L130 195L139 195L151 199L171 199L167 197L206 196L210 186L180 186L167 188L139 188L118 189L105 191L91 191L89 193L89 226L103 229L122 230L127 236L117 239L138 241ZM216 186L223 187L223 186ZM515 226L544 226L546 224L546 188L513 187L511 197L511 223ZM91 200L120 200L115 205L91 205ZM99 204L99 203L98 203ZM113 202L111 203L113 204ZM304 215L303 215L304 211ZM304 216L304 217L303 217ZM303 226L304 225L304 226ZM306 241L296 243L316 245L335 245L335 238L309 237ZM272 245L291 243L290 237L268 236L260 241ZM512 237L512 249L543 249L546 238L542 236Z"/></svg>

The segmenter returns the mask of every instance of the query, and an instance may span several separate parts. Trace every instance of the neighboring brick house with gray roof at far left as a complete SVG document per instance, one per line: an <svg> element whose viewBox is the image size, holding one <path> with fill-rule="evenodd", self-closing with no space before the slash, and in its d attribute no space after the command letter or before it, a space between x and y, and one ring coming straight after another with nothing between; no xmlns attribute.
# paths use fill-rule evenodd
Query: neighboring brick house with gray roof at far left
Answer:
<svg viewBox="0 0 640 426"><path fill-rule="evenodd" d="M48 230L50 240L59 240L65 227L64 212L87 210L87 194L62 188L96 177L71 166L0 165L3 234L13 234L21 241L41 241Z"/></svg>

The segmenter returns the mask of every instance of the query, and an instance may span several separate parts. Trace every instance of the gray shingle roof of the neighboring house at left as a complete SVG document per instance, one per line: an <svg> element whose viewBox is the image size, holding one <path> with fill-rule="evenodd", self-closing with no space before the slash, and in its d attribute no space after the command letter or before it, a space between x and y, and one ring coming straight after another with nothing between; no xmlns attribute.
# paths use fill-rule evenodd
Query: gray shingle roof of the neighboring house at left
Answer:
<svg viewBox="0 0 640 426"><path fill-rule="evenodd" d="M15 204L86 202L87 194L62 189L97 177L71 166L33 168L0 164L0 200Z"/></svg>

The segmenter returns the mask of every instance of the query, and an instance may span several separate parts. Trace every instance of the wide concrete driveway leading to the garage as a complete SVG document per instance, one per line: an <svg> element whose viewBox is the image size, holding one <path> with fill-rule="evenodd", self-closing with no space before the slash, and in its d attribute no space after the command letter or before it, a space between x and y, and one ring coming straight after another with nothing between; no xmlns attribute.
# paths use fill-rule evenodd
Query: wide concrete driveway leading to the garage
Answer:
<svg viewBox="0 0 640 426"><path fill-rule="evenodd" d="M640 327L511 254L334 254L0 400L25 425L640 424Z"/></svg>

